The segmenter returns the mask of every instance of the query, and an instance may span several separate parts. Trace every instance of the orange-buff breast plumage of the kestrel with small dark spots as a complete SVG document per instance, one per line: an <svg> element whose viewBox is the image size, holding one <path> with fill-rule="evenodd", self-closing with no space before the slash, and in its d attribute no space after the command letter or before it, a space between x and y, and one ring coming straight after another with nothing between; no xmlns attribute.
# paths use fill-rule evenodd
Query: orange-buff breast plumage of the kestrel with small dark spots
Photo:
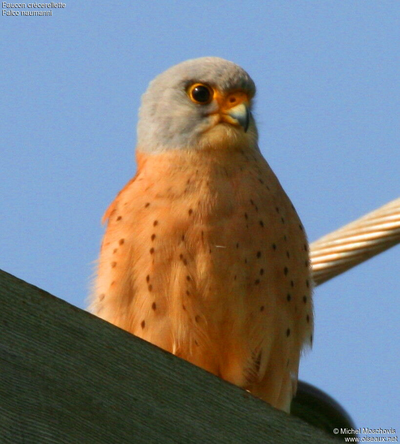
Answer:
<svg viewBox="0 0 400 444"><path fill-rule="evenodd" d="M194 167L162 157L141 159L109 212L99 315L190 361L194 347L218 350L202 363L216 374L224 350L236 350L233 381L254 373L247 363L271 338L285 339L289 359L312 322L307 244L268 164L257 152L230 153L226 166L213 153Z"/></svg>

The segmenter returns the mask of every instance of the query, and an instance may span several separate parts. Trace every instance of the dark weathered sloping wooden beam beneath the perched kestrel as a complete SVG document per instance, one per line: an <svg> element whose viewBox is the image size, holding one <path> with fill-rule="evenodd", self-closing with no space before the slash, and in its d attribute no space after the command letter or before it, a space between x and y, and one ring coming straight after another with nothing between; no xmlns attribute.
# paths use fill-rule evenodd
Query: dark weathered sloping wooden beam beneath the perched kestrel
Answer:
<svg viewBox="0 0 400 444"><path fill-rule="evenodd" d="M336 443L0 271L0 442Z"/></svg>

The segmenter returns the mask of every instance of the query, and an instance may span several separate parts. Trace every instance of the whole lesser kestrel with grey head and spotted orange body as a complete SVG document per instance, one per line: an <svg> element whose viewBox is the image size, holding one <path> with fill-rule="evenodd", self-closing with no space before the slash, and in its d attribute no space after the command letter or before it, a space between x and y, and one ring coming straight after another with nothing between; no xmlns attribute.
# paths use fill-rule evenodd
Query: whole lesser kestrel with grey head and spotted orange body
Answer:
<svg viewBox="0 0 400 444"><path fill-rule="evenodd" d="M105 212L90 309L289 411L312 342L308 246L258 148L254 94L215 57L150 82L137 173Z"/></svg>

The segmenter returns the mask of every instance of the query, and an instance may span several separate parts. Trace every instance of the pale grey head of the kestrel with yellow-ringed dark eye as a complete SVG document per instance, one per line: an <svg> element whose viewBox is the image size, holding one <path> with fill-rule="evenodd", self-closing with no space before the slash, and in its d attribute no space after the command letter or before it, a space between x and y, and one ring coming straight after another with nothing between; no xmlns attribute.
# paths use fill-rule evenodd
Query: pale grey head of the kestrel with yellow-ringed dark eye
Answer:
<svg viewBox="0 0 400 444"><path fill-rule="evenodd" d="M172 66L142 97L138 150L256 146L254 94L253 80L231 61L202 57Z"/></svg>

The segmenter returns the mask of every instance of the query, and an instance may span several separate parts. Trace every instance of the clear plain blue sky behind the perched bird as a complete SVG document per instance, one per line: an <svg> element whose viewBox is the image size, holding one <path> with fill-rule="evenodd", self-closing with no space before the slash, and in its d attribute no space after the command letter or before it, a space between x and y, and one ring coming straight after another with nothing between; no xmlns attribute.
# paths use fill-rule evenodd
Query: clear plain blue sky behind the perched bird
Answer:
<svg viewBox="0 0 400 444"><path fill-rule="evenodd" d="M0 268L85 307L148 81L214 55L258 92L260 148L310 241L400 195L398 1L67 1L0 17ZM315 291L300 378L399 432L400 247Z"/></svg>

